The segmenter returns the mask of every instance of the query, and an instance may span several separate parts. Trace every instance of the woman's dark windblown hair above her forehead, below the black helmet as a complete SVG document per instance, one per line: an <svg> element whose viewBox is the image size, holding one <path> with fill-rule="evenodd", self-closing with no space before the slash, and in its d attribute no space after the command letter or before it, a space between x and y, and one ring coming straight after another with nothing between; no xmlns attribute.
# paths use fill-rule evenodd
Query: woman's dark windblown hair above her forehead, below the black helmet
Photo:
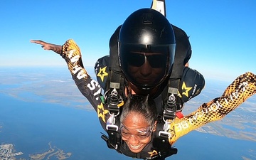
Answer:
<svg viewBox="0 0 256 160"><path fill-rule="evenodd" d="M151 126L154 125L157 118L156 104L148 95L129 95L127 102L123 106L120 122L122 123L131 112L142 114L146 122Z"/></svg>

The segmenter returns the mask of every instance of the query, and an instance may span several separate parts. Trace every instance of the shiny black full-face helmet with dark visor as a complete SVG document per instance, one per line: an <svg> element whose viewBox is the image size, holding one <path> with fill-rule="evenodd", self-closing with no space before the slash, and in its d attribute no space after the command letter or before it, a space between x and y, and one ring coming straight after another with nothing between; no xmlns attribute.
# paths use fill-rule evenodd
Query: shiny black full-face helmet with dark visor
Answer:
<svg viewBox="0 0 256 160"><path fill-rule="evenodd" d="M159 11L139 9L119 32L119 65L139 90L151 90L171 73L175 37L171 24Z"/></svg>

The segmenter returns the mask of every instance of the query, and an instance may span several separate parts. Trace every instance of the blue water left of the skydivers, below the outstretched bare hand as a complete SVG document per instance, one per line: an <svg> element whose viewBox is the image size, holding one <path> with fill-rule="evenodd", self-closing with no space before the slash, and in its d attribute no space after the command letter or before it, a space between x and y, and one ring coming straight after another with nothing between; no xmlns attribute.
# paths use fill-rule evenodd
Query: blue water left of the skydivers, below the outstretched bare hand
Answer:
<svg viewBox="0 0 256 160"><path fill-rule="evenodd" d="M103 159L112 154L114 159L126 158L107 149L100 138L104 131L94 111L23 102L3 94L0 100L0 143L14 144L17 152L23 152L16 158L28 159L31 154L48 151L49 142L71 152L70 159Z"/></svg>

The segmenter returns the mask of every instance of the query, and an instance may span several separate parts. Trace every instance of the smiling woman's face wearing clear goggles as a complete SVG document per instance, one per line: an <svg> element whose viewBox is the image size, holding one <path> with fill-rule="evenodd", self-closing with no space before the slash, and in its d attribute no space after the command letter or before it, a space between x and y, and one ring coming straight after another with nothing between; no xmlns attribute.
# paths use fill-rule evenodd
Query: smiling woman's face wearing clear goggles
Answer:
<svg viewBox="0 0 256 160"><path fill-rule="evenodd" d="M131 112L121 124L122 140L134 153L139 153L151 141L152 129L142 114Z"/></svg>

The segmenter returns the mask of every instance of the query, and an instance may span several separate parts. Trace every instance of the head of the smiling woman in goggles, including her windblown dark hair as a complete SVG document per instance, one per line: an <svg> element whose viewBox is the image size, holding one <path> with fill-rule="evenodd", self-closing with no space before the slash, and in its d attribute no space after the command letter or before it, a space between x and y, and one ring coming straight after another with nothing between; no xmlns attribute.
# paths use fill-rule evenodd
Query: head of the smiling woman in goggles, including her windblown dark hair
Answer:
<svg viewBox="0 0 256 160"><path fill-rule="evenodd" d="M130 95L120 117L122 140L134 153L149 144L156 131L156 105L148 96ZM124 152L124 151L123 151Z"/></svg>

